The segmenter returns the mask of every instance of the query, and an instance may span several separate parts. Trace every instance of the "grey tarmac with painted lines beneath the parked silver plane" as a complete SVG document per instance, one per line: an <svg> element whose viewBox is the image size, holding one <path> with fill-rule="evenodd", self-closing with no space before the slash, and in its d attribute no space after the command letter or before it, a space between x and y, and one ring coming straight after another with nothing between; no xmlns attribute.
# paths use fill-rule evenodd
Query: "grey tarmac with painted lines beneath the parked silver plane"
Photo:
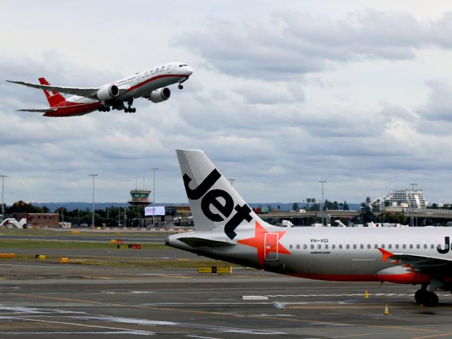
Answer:
<svg viewBox="0 0 452 339"><path fill-rule="evenodd" d="M0 338L452 338L451 294L426 308L414 304L416 290L235 267L219 275L3 259Z"/></svg>

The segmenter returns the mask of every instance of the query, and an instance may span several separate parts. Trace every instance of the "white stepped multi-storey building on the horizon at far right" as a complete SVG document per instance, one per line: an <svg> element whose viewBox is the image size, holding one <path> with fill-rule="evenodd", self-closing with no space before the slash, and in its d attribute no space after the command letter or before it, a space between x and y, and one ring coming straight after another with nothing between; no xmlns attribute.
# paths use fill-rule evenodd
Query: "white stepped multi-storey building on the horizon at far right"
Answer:
<svg viewBox="0 0 452 339"><path fill-rule="evenodd" d="M412 208L426 208L427 202L423 197L422 190L392 190L388 195L379 197L372 201L377 204L380 209L389 206L403 206Z"/></svg>

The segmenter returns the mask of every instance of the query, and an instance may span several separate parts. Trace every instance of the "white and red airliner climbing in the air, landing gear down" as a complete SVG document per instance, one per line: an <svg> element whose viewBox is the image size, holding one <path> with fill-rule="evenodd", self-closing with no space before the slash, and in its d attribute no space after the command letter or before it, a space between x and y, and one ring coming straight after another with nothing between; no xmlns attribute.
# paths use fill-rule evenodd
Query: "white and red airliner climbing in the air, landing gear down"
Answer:
<svg viewBox="0 0 452 339"><path fill-rule="evenodd" d="M143 97L157 103L170 99L171 91L166 86L179 83L177 88L184 88L182 83L193 74L193 69L186 63L168 63L143 72L136 73L112 83L95 88L74 88L50 85L45 78L39 78L38 83L10 81L32 88L44 90L49 108L22 109L23 112L44 113L45 117L72 117L84 115L95 110L109 112L110 108L124 110L125 113L135 113L132 108L134 99ZM59 92L74 94L65 99ZM124 104L127 103L127 107Z"/></svg>

